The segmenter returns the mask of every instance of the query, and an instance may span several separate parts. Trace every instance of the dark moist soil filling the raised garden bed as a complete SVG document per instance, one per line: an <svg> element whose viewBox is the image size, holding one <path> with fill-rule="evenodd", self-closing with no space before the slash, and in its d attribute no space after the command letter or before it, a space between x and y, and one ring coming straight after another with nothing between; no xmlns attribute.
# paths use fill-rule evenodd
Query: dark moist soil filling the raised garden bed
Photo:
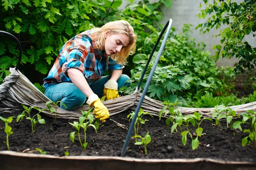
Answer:
<svg viewBox="0 0 256 170"><path fill-rule="evenodd" d="M2 113L0 116L17 117L22 111L13 113ZM119 122L126 127L130 123L127 118L129 111L111 116L111 119ZM92 127L87 130L87 150L82 150L76 135L75 142L70 140L70 133L75 131L68 122L72 119L56 119L53 122L51 117L42 115L46 125L37 124L35 133L31 133L31 124L27 119L22 122L13 120L9 125L12 127L13 134L9 136L10 150L26 153L38 153L35 148L47 151L49 155L64 156L68 150L70 156L120 156L124 140L128 130L117 126L113 121L107 120L101 123L98 133ZM249 161L256 163L256 148L253 144L245 147L241 146L241 139L246 136L240 130L230 130L226 122L222 121L222 127L215 126L215 122L205 121L201 124L205 135L199 138L201 144L197 150L192 150L191 140L188 136L188 143L183 146L181 135L171 134L171 127L167 127L165 119L159 120L158 117L143 116L149 121L139 130L139 134L144 136L146 132L152 138L148 144L148 155L144 153L144 147L134 145L134 139L130 140L125 156L147 159L183 159L183 158L210 158L223 161ZM6 134L4 133L4 123L0 121L0 150L7 150ZM190 127L191 132L195 131ZM195 137L195 136L194 136ZM81 135L82 140L84 136Z"/></svg>

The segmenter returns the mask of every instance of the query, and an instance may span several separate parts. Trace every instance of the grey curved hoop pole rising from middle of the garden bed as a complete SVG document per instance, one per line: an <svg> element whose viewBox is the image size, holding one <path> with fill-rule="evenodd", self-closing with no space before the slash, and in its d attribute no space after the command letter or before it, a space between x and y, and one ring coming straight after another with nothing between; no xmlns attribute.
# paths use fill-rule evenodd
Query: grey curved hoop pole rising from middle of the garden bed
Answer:
<svg viewBox="0 0 256 170"><path fill-rule="evenodd" d="M155 60L155 62L154 62L154 65L153 65L151 71L150 71L150 74L149 74L149 76L148 76L148 80L147 80L146 85L145 85L145 87L144 87L144 90L143 90L143 93L142 93L142 95L141 95L140 101L139 101L139 103L138 103L138 105L137 105L137 108L136 108L134 117L133 117L133 119L132 119L132 121L131 121L131 125L130 125L130 127L129 127L129 130L128 130L128 133L127 133L127 136L126 136L125 143L124 143L123 148L122 148L121 156L125 156L126 148L127 148L127 146L128 146L129 139L131 138L131 132L132 132L132 130L133 130L133 128L134 128L134 124L135 124L136 118L137 118L138 113L139 113L139 111L140 111L140 106L142 105L143 99L144 99L144 97L145 97L145 95L146 95L146 93L147 93L147 91L148 91L148 86L149 86L149 84L150 84L150 82L151 82L151 79L152 79L152 77L153 77L153 75L154 75L154 71L155 71L155 69L156 69L156 67L157 67L157 63L158 63L158 61L159 61L159 59L160 59L160 56L161 56L161 54L162 54L162 52L163 52L163 48L164 48L164 46L165 46L165 44L166 44L166 41L167 41L167 39L168 39L168 36L169 36L169 32L170 32L170 30L171 30L171 27L172 27L172 19L170 19L170 20L166 23L165 27L163 28L163 31L161 32L161 34L160 34L160 36L159 36L159 37L161 38L161 37L163 36L163 33L166 31L166 28L167 28L166 34L165 34L165 36L164 36L164 38L163 38L163 42L162 42L162 44L161 44L161 46L160 46L160 49L159 49L159 52L158 52L158 54L157 54L157 58L156 58L156 60ZM160 40L160 38L158 38L158 39ZM157 41L158 41L158 40L157 40ZM158 42L159 42L159 41L158 41ZM157 44L158 44L158 42L157 42ZM155 47L156 47L156 45L155 45ZM153 50L155 50L155 47L154 47ZM153 52L153 53L154 53L154 52ZM151 54L152 54L152 52L151 52ZM152 54L152 55L153 55L153 54ZM152 56L151 56L151 57L152 57ZM148 59L148 60L149 60L149 59ZM148 63L149 63L149 62L148 62ZM145 70L146 70L146 68L145 68ZM145 71L145 70L144 70L144 71ZM143 75L143 76L144 76L144 75ZM141 79L143 79L143 77L142 77ZM138 90L139 90L139 88L138 88Z"/></svg>

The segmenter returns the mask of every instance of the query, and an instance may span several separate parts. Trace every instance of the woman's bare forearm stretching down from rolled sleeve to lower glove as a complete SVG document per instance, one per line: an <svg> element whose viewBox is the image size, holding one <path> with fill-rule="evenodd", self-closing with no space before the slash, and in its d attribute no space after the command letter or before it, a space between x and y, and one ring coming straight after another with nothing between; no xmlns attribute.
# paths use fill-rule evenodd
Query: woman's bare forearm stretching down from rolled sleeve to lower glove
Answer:
<svg viewBox="0 0 256 170"><path fill-rule="evenodd" d="M85 96L89 98L90 95L94 94L86 79L84 78L84 75L79 69L70 68L67 70L67 74L74 85L76 85L76 87L79 88L79 90L81 90Z"/></svg>

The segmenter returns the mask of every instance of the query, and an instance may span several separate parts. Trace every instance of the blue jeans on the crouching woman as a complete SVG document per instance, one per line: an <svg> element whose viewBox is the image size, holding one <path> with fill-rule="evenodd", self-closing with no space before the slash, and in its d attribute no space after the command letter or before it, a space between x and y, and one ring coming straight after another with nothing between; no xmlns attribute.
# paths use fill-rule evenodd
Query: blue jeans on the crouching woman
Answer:
<svg viewBox="0 0 256 170"><path fill-rule="evenodd" d="M104 85L111 76L102 76L96 83L90 86L95 94L101 98L103 96ZM117 80L118 88L129 85L126 80L129 77L125 74L122 74L121 77ZM45 96L51 99L53 102L61 101L64 103L67 108L63 105L60 105L60 108L72 111L86 102L87 97L76 87L72 82L62 82L50 85L45 89Z"/></svg>

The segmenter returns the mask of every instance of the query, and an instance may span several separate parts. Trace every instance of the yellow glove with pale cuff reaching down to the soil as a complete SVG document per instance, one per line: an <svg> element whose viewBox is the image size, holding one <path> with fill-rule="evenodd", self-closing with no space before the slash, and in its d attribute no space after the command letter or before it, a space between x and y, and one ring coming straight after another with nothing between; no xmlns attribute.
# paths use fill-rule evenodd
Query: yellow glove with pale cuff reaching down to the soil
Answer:
<svg viewBox="0 0 256 170"><path fill-rule="evenodd" d="M86 103L90 105L90 107L94 106L93 115L95 115L96 119L106 122L106 119L109 118L108 109L103 105L96 94L90 95Z"/></svg>

